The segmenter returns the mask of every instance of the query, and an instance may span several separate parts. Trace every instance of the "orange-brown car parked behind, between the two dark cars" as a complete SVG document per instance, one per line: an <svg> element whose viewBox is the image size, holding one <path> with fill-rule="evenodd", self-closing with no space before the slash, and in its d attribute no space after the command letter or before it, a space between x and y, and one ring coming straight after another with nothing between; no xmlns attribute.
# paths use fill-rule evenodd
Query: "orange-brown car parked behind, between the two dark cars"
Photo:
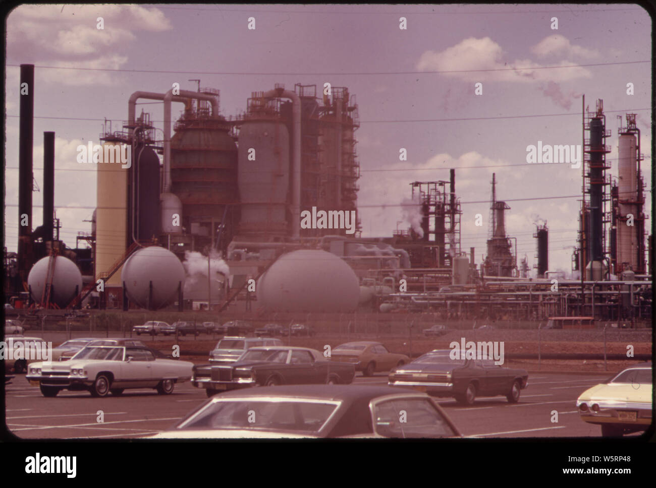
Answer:
<svg viewBox="0 0 656 488"><path fill-rule="evenodd" d="M331 359L353 363L356 371L371 376L377 371L390 371L395 366L409 363L405 354L396 354L374 341L356 341L339 345L331 350Z"/></svg>

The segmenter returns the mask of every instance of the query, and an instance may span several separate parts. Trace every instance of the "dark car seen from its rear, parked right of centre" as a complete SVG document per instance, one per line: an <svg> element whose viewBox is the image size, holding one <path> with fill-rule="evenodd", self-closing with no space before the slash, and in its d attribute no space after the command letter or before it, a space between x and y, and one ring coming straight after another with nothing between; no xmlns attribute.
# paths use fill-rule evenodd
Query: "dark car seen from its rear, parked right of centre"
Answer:
<svg viewBox="0 0 656 488"><path fill-rule="evenodd" d="M528 386L525 369L503 367L493 359L451 359L450 349L432 350L413 362L392 369L388 385L405 386L433 396L451 396L471 405L477 394L503 395L510 403L520 400Z"/></svg>

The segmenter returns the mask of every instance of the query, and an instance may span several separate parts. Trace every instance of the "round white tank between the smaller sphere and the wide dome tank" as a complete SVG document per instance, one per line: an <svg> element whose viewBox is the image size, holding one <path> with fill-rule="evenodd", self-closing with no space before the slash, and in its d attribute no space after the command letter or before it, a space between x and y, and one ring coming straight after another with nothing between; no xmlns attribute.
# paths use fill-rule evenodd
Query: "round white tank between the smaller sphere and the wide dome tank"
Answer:
<svg viewBox="0 0 656 488"><path fill-rule="evenodd" d="M184 267L171 251L150 246L138 250L125 261L121 282L125 283L128 298L136 305L157 310L177 299L180 282L184 286Z"/></svg>

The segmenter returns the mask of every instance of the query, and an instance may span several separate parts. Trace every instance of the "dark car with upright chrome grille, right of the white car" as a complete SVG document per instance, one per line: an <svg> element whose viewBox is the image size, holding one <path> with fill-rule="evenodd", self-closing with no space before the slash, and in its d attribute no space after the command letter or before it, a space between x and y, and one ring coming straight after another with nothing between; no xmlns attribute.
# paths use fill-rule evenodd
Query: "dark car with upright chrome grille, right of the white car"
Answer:
<svg viewBox="0 0 656 488"><path fill-rule="evenodd" d="M353 364L328 361L315 349L252 347L233 364L194 366L192 385L212 396L251 386L351 383L355 374Z"/></svg>

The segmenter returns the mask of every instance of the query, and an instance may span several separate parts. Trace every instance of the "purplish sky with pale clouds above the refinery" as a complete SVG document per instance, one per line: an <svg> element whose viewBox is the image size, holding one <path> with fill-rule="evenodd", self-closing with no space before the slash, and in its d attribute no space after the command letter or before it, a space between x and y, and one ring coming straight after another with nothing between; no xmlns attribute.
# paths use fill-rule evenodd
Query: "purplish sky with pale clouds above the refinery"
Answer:
<svg viewBox="0 0 656 488"><path fill-rule="evenodd" d="M98 17L103 29L98 29ZM255 29L249 29L249 18ZM401 29L400 18L406 19ZM557 27L555 29L557 19ZM136 90L173 83L218 88L222 115L275 83L347 86L359 105L363 236L388 236L403 219L412 181L449 179L456 168L462 250L487 238L490 181L511 210L508 235L535 261L535 221L550 229L550 269L569 270L581 170L527 164L527 145L581 144L581 98L604 100L607 155L617 175L617 115L637 113L651 188L651 19L608 5L26 5L7 17L5 246L16 249L18 81L35 64L34 166L43 177L43 132L56 132L55 208L62 238L91 231L93 167L75 148L98 141L102 121L127 119ZM482 83L482 94L476 94ZM633 94L627 94L632 83ZM138 107L161 128L161 103ZM174 107L173 115L179 113ZM407 160L399 159L400 149ZM41 192L33 222L41 222ZM651 193L646 213L651 216ZM483 226L474 225L482 214ZM651 221L647 221L651 228ZM400 229L408 227L401 223Z"/></svg>

